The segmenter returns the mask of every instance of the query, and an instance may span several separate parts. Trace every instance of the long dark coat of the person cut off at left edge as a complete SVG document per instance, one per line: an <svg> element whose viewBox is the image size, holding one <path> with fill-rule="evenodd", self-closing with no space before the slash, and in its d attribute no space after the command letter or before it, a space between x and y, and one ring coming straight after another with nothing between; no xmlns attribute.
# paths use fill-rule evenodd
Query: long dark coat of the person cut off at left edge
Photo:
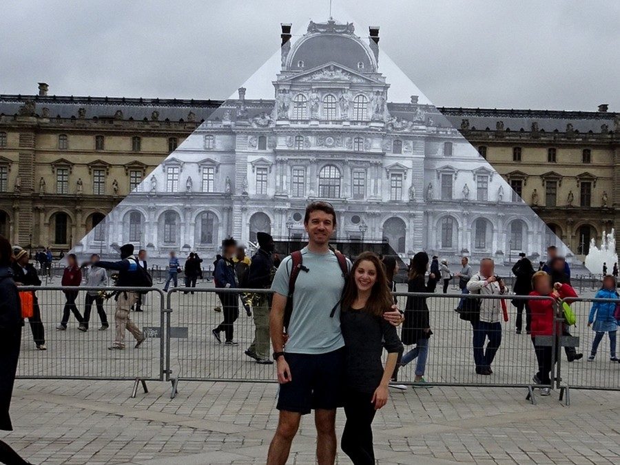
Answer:
<svg viewBox="0 0 620 465"><path fill-rule="evenodd" d="M8 267L0 268L0 430L11 431L9 407L21 345L21 302Z"/></svg>

